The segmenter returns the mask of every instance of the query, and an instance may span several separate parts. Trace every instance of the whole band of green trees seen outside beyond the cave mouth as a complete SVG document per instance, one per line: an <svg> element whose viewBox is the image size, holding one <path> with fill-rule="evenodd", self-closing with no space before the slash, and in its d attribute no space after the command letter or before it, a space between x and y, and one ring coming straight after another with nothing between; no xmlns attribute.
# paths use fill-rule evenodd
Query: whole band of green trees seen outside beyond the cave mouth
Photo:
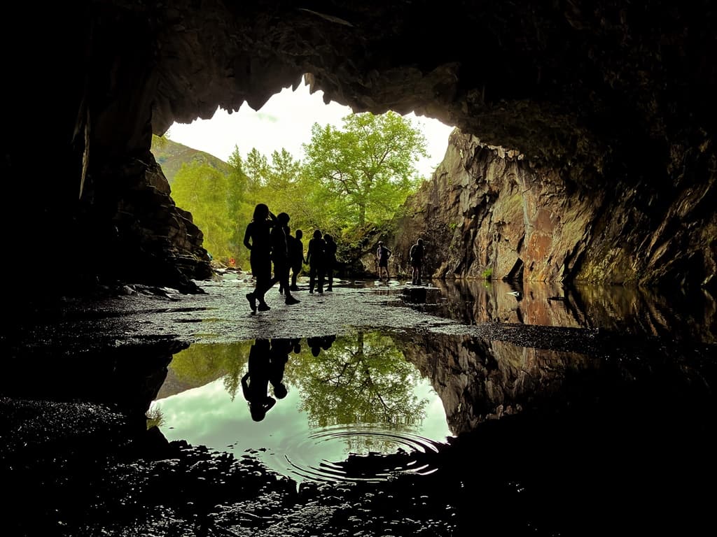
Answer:
<svg viewBox="0 0 717 537"><path fill-rule="evenodd" d="M165 142L153 139L156 147ZM283 148L270 158L252 148L242 158L235 146L228 173L201 163L176 173L172 198L191 213L214 258L248 266L242 238L257 203L288 213L292 231L333 234L341 252L342 238L360 242L364 230L391 220L417 190L415 166L427 156L422 132L395 112L348 115L341 128L315 123L303 150L303 160Z"/></svg>

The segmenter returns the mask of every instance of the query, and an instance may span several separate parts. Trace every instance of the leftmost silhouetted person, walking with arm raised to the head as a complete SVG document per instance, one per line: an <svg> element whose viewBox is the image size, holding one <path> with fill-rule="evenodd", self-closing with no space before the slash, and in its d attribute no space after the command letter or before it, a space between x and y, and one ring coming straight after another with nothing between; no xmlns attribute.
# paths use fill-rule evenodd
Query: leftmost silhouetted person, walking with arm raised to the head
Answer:
<svg viewBox="0 0 717 537"><path fill-rule="evenodd" d="M264 295L270 288L271 281L271 230L275 226L276 216L269 211L266 203L257 203L252 221L247 224L244 232L244 246L249 248L249 263L255 279L254 291L247 294L252 313L269 311Z"/></svg>

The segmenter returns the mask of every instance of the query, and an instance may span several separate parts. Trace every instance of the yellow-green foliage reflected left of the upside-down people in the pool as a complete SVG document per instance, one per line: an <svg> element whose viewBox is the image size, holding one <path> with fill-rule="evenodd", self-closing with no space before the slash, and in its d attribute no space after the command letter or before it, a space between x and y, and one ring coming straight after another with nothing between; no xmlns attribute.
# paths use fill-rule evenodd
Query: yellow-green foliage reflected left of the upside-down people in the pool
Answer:
<svg viewBox="0 0 717 537"><path fill-rule="evenodd" d="M252 341L232 344L195 343L178 352L169 367L178 379L190 386L204 386L224 377L224 387L237 395Z"/></svg>

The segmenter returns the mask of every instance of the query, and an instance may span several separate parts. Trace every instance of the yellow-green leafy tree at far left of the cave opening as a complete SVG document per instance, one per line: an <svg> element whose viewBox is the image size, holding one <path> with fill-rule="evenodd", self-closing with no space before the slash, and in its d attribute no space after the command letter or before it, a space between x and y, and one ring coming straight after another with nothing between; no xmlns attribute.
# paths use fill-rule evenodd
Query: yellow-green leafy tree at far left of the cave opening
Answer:
<svg viewBox="0 0 717 537"><path fill-rule="evenodd" d="M204 248L217 258L231 256L232 216L227 176L206 164L183 164L174 177L171 195L177 206L191 213L204 233Z"/></svg>

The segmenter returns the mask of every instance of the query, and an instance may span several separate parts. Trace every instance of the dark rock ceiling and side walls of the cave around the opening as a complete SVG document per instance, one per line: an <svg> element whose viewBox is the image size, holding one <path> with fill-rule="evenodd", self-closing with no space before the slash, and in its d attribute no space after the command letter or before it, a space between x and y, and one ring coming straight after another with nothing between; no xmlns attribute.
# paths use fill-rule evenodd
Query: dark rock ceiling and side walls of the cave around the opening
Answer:
<svg viewBox="0 0 717 537"><path fill-rule="evenodd" d="M515 200L512 221L465 218L475 233L457 233L473 244L435 221L455 205L448 185L463 185L460 173L437 170L413 200L433 220L403 228L459 258L488 248L497 228L522 230L502 256L460 275L435 261L434 276L490 266L499 277L522 259L523 279L713 289L715 19L704 0L13 5L6 21L27 24L32 44L4 32L12 255L24 279L50 282L31 286L42 296L117 281L200 292L211 276L202 232L171 199L151 137L217 107L259 109L305 77L355 112L455 125L462 174L501 167L500 185L465 180L471 206L458 216L495 189ZM9 260L5 278L16 279Z"/></svg>

